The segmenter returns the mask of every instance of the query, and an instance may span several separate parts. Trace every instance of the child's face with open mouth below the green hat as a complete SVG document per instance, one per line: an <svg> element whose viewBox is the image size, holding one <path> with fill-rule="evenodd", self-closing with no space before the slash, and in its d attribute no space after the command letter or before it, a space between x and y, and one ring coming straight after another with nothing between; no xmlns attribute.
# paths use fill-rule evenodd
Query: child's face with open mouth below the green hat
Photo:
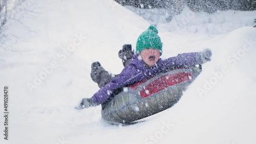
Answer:
<svg viewBox="0 0 256 144"><path fill-rule="evenodd" d="M140 52L142 60L150 67L154 66L159 57L160 51L156 49L144 49Z"/></svg>

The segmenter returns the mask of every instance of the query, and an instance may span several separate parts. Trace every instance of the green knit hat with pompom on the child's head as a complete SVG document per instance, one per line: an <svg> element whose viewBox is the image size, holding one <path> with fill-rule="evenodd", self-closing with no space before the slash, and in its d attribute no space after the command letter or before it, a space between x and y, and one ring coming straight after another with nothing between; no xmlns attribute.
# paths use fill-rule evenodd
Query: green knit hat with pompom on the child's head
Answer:
<svg viewBox="0 0 256 144"><path fill-rule="evenodd" d="M148 48L160 50L160 55L162 55L163 43L157 34L158 30L154 26L150 26L146 31L141 33L136 43L136 55L139 55L142 50Z"/></svg>

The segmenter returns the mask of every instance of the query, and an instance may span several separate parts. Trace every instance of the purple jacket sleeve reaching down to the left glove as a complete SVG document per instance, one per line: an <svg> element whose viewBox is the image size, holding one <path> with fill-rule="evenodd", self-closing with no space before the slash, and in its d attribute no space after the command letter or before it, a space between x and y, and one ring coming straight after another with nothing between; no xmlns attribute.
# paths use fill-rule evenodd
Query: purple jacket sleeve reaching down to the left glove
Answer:
<svg viewBox="0 0 256 144"><path fill-rule="evenodd" d="M140 81L141 74L142 72L137 70L134 65L126 66L118 77L99 89L92 98L98 104L102 104L111 97L115 89Z"/></svg>

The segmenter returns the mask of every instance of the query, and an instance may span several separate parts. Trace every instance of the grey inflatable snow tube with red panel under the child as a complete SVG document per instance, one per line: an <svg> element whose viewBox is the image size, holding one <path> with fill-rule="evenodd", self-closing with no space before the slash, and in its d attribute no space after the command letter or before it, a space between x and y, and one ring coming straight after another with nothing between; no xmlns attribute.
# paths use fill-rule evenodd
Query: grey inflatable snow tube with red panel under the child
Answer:
<svg viewBox="0 0 256 144"><path fill-rule="evenodd" d="M179 68L116 89L102 104L101 116L110 123L131 123L176 104L201 73L201 65Z"/></svg>

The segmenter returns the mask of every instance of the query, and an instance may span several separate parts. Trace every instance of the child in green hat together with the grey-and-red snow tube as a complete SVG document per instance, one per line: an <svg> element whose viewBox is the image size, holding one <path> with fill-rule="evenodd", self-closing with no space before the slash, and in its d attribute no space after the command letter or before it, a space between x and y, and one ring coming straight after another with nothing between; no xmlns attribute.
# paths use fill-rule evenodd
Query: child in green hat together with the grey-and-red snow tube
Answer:
<svg viewBox="0 0 256 144"><path fill-rule="evenodd" d="M183 53L162 60L162 42L158 30L150 26L139 36L135 54L128 44L118 55L125 66L119 75L108 73L99 62L92 63L91 78L100 89L91 98L83 98L76 108L102 104L103 119L130 123L177 103L182 92L199 74L200 68L195 65L210 61L211 51L205 49L202 52ZM142 81L145 83L133 86ZM125 115L127 112L131 114Z"/></svg>

